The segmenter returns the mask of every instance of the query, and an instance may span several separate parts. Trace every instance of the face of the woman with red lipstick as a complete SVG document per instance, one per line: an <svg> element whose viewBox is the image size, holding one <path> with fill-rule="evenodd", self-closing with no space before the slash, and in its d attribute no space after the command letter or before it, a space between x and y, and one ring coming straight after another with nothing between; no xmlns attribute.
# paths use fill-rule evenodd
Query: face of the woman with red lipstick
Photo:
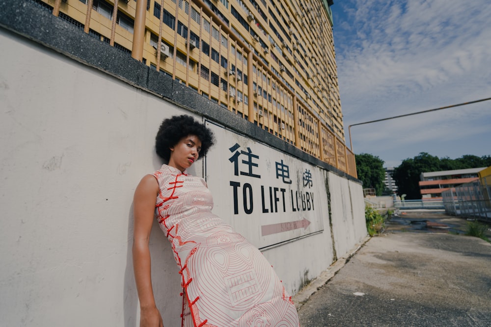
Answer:
<svg viewBox="0 0 491 327"><path fill-rule="evenodd" d="M184 172L198 160L199 151L201 151L201 141L196 135L183 137L175 146L170 147L169 166Z"/></svg>

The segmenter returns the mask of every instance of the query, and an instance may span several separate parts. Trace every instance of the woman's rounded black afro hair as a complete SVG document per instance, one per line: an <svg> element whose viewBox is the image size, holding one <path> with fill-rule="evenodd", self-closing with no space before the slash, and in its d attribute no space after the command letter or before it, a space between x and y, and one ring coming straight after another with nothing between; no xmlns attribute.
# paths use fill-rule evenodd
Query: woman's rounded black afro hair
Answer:
<svg viewBox="0 0 491 327"><path fill-rule="evenodd" d="M155 137L155 150L165 161L170 159L170 148L188 136L195 135L201 141L198 160L206 155L215 143L213 132L191 116L172 116L164 119Z"/></svg>

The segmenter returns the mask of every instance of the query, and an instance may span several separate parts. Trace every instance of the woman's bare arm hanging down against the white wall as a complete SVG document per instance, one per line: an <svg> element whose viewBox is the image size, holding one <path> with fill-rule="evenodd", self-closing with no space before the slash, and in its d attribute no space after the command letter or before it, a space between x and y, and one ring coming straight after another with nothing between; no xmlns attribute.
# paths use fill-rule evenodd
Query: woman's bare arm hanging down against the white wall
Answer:
<svg viewBox="0 0 491 327"><path fill-rule="evenodd" d="M133 270L140 301L140 327L164 327L152 289L148 242L155 215L159 183L152 175L144 176L133 198Z"/></svg>

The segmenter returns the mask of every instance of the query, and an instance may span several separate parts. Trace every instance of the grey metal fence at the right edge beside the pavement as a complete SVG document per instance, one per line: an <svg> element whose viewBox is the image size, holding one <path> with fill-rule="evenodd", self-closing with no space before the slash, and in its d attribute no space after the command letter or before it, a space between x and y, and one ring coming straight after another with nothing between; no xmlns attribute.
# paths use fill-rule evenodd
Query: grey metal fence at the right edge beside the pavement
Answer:
<svg viewBox="0 0 491 327"><path fill-rule="evenodd" d="M445 212L491 222L491 175L441 193Z"/></svg>

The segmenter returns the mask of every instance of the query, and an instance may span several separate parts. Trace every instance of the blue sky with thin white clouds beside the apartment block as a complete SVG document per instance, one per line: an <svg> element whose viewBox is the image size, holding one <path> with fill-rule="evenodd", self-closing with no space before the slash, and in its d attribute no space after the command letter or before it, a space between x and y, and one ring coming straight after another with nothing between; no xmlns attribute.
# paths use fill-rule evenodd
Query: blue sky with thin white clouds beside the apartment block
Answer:
<svg viewBox="0 0 491 327"><path fill-rule="evenodd" d="M356 123L491 98L491 1L338 0L331 6L346 144ZM419 152L491 155L491 101L351 128L386 167Z"/></svg>

